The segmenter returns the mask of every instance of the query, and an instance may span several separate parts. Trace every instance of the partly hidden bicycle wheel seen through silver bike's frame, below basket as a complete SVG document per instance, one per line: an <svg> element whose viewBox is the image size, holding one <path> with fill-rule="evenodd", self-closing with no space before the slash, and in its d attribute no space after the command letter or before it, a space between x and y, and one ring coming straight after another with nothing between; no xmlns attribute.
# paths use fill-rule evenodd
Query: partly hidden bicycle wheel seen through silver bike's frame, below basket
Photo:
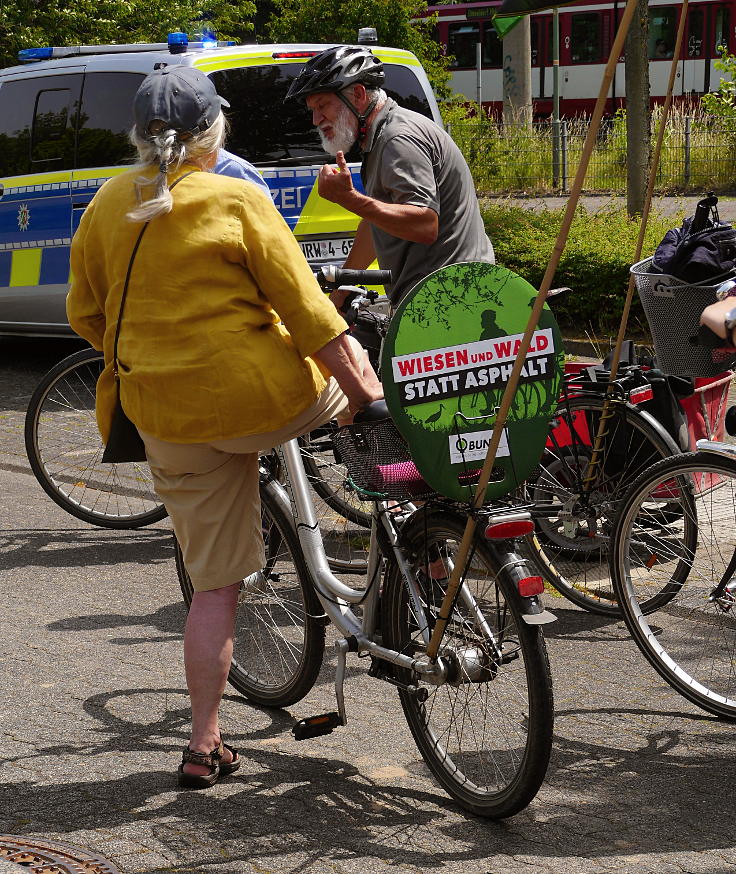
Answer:
<svg viewBox="0 0 736 874"><path fill-rule="evenodd" d="M336 573L364 574L368 568L371 504L350 484L332 444L334 422L299 438L302 463L316 494L314 510L330 567Z"/></svg>

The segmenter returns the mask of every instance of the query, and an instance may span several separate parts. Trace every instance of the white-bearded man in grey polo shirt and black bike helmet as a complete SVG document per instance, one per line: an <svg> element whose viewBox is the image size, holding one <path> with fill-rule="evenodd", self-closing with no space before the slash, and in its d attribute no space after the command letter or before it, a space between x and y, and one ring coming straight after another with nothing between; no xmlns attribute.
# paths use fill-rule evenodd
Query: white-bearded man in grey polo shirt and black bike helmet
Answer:
<svg viewBox="0 0 736 874"><path fill-rule="evenodd" d="M335 46L304 65L286 99L305 100L323 148L336 157L336 167L320 171L320 196L361 218L344 266L361 270L377 258L392 272L395 305L440 267L495 257L460 150L431 119L387 97L384 78L369 48ZM345 159L355 145L366 193Z"/></svg>

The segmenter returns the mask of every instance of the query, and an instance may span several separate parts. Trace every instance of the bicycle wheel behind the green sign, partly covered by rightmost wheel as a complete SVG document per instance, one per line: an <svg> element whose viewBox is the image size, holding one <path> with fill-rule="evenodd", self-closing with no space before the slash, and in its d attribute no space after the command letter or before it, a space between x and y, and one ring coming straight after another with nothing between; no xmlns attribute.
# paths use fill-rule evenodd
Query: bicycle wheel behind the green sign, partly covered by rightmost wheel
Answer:
<svg viewBox="0 0 736 874"><path fill-rule="evenodd" d="M584 485L602 410L602 397L581 396L556 412L539 469L523 490L536 529L524 552L573 604L619 616L608 548L621 498L643 470L679 449L650 415L614 403L595 477Z"/></svg>

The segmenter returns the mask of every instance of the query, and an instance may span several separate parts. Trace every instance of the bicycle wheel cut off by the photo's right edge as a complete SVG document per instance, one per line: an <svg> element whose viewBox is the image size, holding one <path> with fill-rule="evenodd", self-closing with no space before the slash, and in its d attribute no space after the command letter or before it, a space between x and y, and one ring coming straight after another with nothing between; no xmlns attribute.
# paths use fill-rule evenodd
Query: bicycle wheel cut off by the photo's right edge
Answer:
<svg viewBox="0 0 736 874"><path fill-rule="evenodd" d="M736 460L688 453L636 480L611 544L637 646L673 689L726 719L736 719L735 523Z"/></svg>

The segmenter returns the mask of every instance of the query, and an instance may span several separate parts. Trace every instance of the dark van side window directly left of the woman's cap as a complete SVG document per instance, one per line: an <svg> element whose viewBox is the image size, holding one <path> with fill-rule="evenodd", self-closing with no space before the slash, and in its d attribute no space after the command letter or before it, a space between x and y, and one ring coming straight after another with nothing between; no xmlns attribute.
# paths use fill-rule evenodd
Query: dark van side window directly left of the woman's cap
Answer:
<svg viewBox="0 0 736 874"><path fill-rule="evenodd" d="M135 160L128 132L133 125L133 97L143 78L142 73L85 75L77 133L78 168L112 167Z"/></svg>

